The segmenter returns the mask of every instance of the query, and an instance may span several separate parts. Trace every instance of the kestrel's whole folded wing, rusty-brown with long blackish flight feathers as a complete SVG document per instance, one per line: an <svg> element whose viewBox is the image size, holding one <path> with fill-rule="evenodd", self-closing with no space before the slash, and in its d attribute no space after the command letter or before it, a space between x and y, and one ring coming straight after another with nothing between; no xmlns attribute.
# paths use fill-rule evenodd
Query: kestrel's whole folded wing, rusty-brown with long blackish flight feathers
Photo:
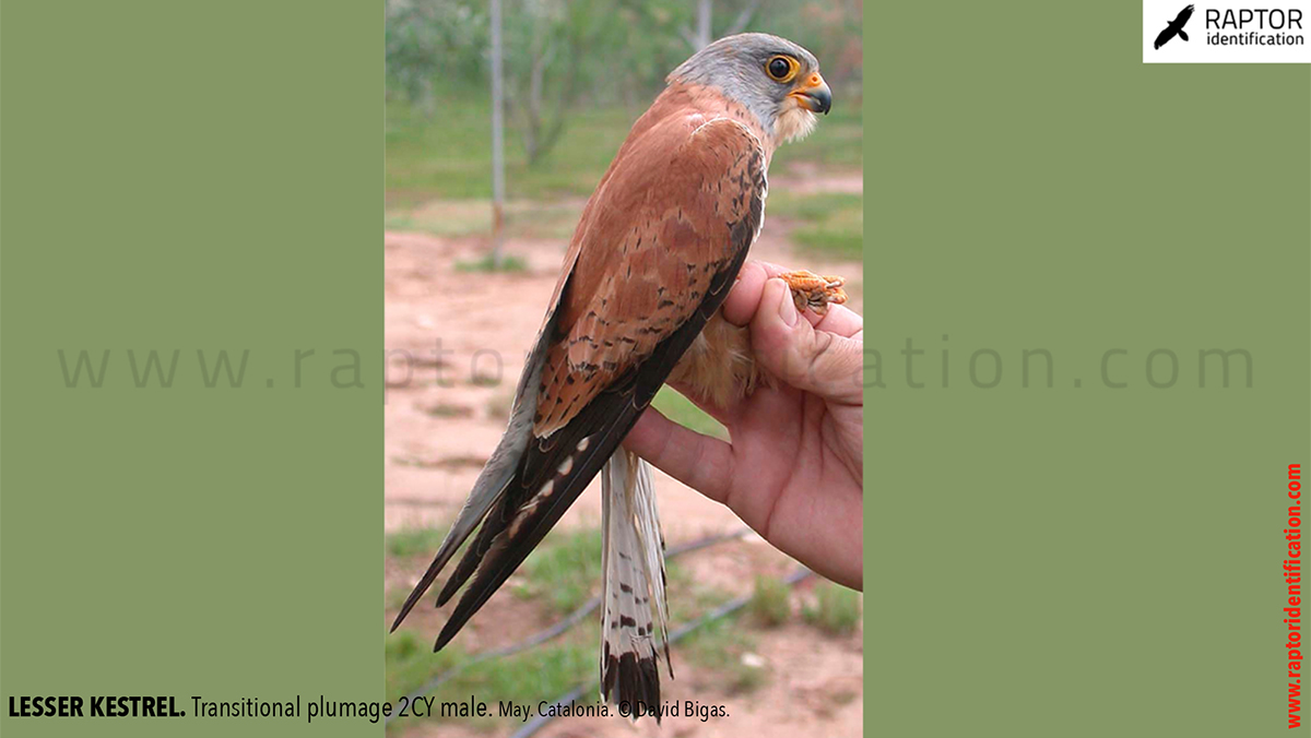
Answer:
<svg viewBox="0 0 1311 738"><path fill-rule="evenodd" d="M763 218L764 151L730 119L635 126L593 195L544 336L514 478L438 595L440 649L545 536L728 296Z"/></svg>

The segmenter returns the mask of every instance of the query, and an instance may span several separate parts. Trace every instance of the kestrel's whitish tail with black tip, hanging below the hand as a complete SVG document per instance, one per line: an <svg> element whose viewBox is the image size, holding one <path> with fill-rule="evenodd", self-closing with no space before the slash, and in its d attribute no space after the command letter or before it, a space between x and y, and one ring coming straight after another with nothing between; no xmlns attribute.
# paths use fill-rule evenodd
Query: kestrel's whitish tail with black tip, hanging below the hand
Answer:
<svg viewBox="0 0 1311 738"><path fill-rule="evenodd" d="M669 655L665 604L665 537L656 513L652 468L623 448L606 461L600 484L602 621L600 693L628 703L629 714L654 714L659 722L659 648ZM652 604L654 604L653 619ZM657 646L656 623L659 624Z"/></svg>

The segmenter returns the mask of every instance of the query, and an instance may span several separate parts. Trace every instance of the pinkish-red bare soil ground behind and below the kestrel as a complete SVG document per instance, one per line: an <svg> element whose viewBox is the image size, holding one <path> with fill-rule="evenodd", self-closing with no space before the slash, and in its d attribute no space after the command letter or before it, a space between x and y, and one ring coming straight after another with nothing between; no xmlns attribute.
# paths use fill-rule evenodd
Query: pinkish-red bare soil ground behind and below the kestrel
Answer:
<svg viewBox="0 0 1311 738"><path fill-rule="evenodd" d="M859 191L860 178L844 176L831 182L804 178L779 182L806 191ZM815 189L818 187L818 190ZM768 212L768 211L767 211ZM787 239L789 224L770 219L753 248L753 258L823 274L842 274L861 282L861 265L798 254ZM566 246L558 239L511 240L506 253L527 263L522 273L476 273L456 269L480 258L486 244L477 237L435 237L387 232L385 341L389 353L385 426L385 526L401 528L446 526L458 513L482 463L505 427L510 397L555 287ZM863 290L853 290L851 307L861 309ZM661 518L670 547L707 535L729 532L741 522L675 480L658 475ZM594 482L566 513L560 527L598 527L599 482ZM680 565L699 581L713 582L730 595L751 591L756 574L783 575L796 568L787 556L758 537L721 544L688 554ZM421 572L388 562L388 589L408 589ZM517 574L522 575L522 574ZM511 585L514 579L511 578ZM809 586L793 595L793 607ZM671 604L679 596L670 591ZM388 613L396 604L388 603ZM464 648L477 651L522 640L552 621L543 608L522 598L498 592L460 634ZM444 612L430 603L417 607L406 628L434 638ZM675 623L676 625L676 623ZM763 684L732 693L713 669L679 658L674 648L676 679L663 680L674 700L722 704L726 720L696 718L636 726L621 718L564 718L541 735L859 735L861 733L861 633L834 637L806 625L800 617L754 636L766 670ZM553 699L555 695L543 695ZM496 729L509 735L517 726ZM465 725L414 721L406 735L488 735Z"/></svg>

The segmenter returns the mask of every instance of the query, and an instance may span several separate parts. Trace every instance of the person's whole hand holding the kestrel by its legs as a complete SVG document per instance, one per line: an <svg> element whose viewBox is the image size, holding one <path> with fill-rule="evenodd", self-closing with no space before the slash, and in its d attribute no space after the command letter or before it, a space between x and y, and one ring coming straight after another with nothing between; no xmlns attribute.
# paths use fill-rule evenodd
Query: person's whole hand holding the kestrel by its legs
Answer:
<svg viewBox="0 0 1311 738"><path fill-rule="evenodd" d="M665 473L728 505L766 540L830 579L861 589L863 321L830 305L798 313L783 267L749 262L724 317L749 325L773 378L726 408L683 392L724 423L730 442L649 408L624 440ZM675 389L680 389L674 385Z"/></svg>

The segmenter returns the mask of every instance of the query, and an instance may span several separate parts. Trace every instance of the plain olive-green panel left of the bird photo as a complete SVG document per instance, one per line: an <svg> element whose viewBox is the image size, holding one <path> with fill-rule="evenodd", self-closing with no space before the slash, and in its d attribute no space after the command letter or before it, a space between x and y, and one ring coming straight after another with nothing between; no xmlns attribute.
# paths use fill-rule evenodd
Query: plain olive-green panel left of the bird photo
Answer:
<svg viewBox="0 0 1311 738"><path fill-rule="evenodd" d="M0 729L382 699L382 7L7 0L0 49L0 695L189 713ZM64 384L81 350L100 388ZM170 388L135 387L149 350ZM249 351L241 387L197 350Z"/></svg>

